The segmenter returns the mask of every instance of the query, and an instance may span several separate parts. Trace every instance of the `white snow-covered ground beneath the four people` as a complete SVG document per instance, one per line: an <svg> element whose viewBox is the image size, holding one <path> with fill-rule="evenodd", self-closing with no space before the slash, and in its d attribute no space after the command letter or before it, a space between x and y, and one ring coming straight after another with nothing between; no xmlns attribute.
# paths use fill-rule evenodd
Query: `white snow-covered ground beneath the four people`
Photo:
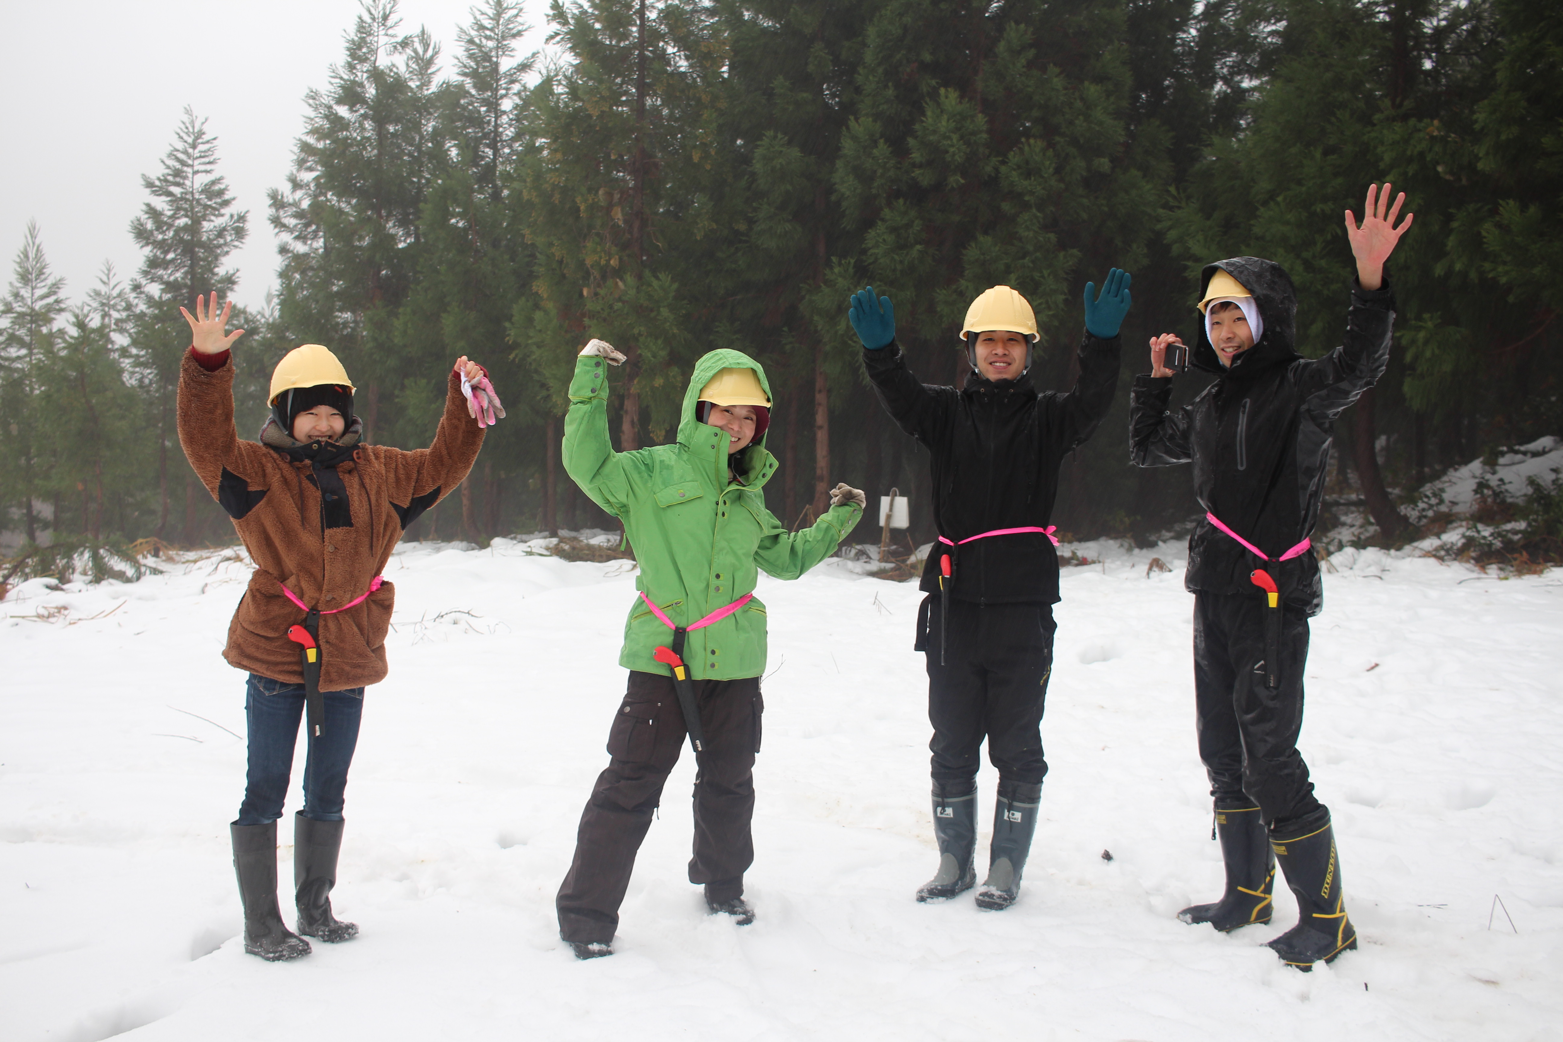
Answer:
<svg viewBox="0 0 1563 1042"><path fill-rule="evenodd" d="M705 915L685 881L686 755L617 955L592 962L560 944L552 900L606 762L631 567L503 542L394 558L391 676L369 692L333 895L363 934L291 964L238 937L244 684L217 651L244 561L28 583L0 606L0 1039L1560 1037L1558 573L1336 555L1302 750L1363 945L1302 975L1261 947L1293 922L1286 892L1275 926L1174 919L1222 878L1180 547L1074 550L1105 564L1064 572L1018 906L913 901L936 861L919 594L830 562L760 586L760 920ZM1172 572L1147 576L1152 555ZM980 783L986 819L991 767Z"/></svg>

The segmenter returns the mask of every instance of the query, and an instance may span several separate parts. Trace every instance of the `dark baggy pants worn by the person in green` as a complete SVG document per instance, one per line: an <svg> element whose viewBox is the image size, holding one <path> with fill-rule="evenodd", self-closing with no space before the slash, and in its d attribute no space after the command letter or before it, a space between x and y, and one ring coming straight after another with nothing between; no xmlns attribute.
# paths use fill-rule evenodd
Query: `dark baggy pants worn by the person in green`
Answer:
<svg viewBox="0 0 1563 1042"><path fill-rule="evenodd" d="M694 681L706 750L694 780L694 858L689 881L713 901L741 897L755 859L755 753L764 703L760 678ZM663 783L686 740L672 676L631 672L608 731L606 770L597 776L575 836L575 859L555 906L560 936L610 944L630 886L635 855L661 803Z"/></svg>

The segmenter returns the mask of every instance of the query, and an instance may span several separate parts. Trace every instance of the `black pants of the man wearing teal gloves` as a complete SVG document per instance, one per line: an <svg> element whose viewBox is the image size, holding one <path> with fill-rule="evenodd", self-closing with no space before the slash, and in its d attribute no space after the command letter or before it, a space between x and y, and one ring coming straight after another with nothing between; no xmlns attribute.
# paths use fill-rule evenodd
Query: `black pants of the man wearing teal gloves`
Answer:
<svg viewBox="0 0 1563 1042"><path fill-rule="evenodd" d="M982 740L999 769L999 786L1041 784L1043 706L1053 669L1053 623L1047 605L974 605L950 600L944 664L939 664L941 608L924 601L917 648L928 655L932 775L944 795L977 784Z"/></svg>

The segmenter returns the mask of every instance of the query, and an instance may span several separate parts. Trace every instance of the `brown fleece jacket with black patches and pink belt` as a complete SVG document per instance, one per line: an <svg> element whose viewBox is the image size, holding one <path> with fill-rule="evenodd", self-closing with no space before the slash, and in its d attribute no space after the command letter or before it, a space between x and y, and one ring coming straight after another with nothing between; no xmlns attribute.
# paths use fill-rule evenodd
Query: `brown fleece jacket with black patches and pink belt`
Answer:
<svg viewBox="0 0 1563 1042"><path fill-rule="evenodd" d="M244 541L255 575L228 625L228 664L289 683L303 683L299 645L288 628L305 612L283 594L320 609L320 691L345 691L384 680L386 628L395 589L384 583L369 600L325 614L363 595L391 558L402 530L467 476L483 430L467 416L461 380L450 375L445 414L428 448L405 451L358 445L336 464L347 509L322 501L309 461L244 442L233 428L233 362L206 372L192 351L180 369L180 444ZM330 494L334 483L327 481ZM331 526L327 528L327 522ZM344 523L345 522L345 523Z"/></svg>

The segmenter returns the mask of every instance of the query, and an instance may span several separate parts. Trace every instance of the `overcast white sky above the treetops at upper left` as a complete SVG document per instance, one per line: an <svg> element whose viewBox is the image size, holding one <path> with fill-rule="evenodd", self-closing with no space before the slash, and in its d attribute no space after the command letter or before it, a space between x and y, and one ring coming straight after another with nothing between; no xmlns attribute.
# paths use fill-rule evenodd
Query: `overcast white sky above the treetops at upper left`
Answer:
<svg viewBox="0 0 1563 1042"><path fill-rule="evenodd" d="M452 67L472 0L402 0L402 30L427 25ZM542 45L547 0L525 0ZM219 172L250 211L231 256L234 300L258 306L274 286L277 244L266 189L281 187L303 128L303 94L341 61L358 0L0 0L0 287L28 220L77 300L113 261L141 266L130 222L186 105L217 136Z"/></svg>

